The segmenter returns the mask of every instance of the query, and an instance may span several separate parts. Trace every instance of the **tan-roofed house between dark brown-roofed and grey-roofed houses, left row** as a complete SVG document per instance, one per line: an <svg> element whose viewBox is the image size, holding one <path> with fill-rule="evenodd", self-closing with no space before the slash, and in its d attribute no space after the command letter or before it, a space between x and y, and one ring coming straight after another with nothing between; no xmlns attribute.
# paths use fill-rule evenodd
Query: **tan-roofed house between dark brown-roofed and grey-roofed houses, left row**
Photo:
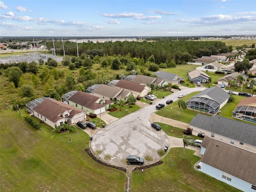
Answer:
<svg viewBox="0 0 256 192"><path fill-rule="evenodd" d="M168 82L162 78L155 78L155 77L150 77L150 76L146 76L146 75L136 75L132 81L134 82L138 82L138 83L142 83L144 85L158 85L160 87L164 86L164 85L168 85Z"/></svg>

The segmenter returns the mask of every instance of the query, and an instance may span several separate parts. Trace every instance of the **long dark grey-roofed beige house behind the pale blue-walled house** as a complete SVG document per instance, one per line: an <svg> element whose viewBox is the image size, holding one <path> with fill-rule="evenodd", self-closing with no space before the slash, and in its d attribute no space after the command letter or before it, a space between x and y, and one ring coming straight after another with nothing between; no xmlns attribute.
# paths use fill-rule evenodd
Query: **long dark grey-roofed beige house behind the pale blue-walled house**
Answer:
<svg viewBox="0 0 256 192"><path fill-rule="evenodd" d="M202 133L204 136L256 153L255 125L218 115L203 114L197 114L189 125L194 135Z"/></svg>

